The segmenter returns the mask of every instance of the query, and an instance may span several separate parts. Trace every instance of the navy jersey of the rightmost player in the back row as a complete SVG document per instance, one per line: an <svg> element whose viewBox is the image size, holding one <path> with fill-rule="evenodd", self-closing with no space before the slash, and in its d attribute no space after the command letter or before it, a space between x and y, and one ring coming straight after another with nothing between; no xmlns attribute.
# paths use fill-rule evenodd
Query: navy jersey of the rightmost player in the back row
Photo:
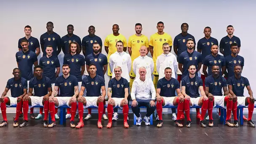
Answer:
<svg viewBox="0 0 256 144"><path fill-rule="evenodd" d="M228 36L223 37L221 39L221 42L219 43L219 48L224 48L224 57L228 56L231 54L231 48L230 45L232 43L237 43L238 47L241 46L241 41L238 37L235 35L232 38L229 38Z"/></svg>

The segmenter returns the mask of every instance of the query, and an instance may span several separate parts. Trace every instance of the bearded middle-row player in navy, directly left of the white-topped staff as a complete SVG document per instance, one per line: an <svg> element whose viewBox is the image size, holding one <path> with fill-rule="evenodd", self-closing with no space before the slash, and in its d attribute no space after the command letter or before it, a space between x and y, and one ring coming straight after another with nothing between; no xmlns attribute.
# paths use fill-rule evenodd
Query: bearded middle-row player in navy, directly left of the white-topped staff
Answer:
<svg viewBox="0 0 256 144"><path fill-rule="evenodd" d="M99 75L104 79L104 75L107 72L107 56L102 54L100 50L101 50L100 44L97 42L93 43L93 53L89 54L85 58L86 71L89 71L89 68L90 68L89 66L90 64L93 63L96 65L96 68L97 68L96 75ZM88 108L88 115L86 115L85 120L88 120L90 118L91 118L91 108ZM105 110L103 110L103 119L107 120L107 115L105 114Z"/></svg>

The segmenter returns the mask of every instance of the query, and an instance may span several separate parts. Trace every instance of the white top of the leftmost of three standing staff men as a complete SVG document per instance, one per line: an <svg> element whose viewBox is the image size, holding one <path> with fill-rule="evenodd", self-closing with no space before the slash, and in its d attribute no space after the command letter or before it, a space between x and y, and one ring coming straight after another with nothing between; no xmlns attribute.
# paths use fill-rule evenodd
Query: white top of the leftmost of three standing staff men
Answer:
<svg viewBox="0 0 256 144"><path fill-rule="evenodd" d="M109 57L109 68L112 72L112 78L115 77L115 72L113 71L117 66L122 68L122 77L128 80L128 83L130 83L129 73L131 71L131 56L124 51L122 53L118 53L116 51Z"/></svg>

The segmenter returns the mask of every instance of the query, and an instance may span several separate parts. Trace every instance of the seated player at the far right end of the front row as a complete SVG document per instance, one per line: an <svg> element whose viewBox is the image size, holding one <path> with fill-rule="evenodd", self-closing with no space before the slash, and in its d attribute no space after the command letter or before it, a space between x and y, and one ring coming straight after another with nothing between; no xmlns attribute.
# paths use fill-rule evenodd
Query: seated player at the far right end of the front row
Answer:
<svg viewBox="0 0 256 144"><path fill-rule="evenodd" d="M248 122L247 125L255 128L255 124L251 120L253 116L253 109L254 109L254 98L253 98L253 92L251 91L251 86L246 77L241 76L242 73L242 67L237 64L234 66L234 73L235 75L232 77L229 77L227 80L227 84L229 87L229 93L233 96L234 100L237 100L237 102L233 103L233 115L237 112L237 105L241 105L244 107L248 107ZM247 88L249 96L244 96L244 88ZM234 126L238 127L238 120L236 115L234 115Z"/></svg>

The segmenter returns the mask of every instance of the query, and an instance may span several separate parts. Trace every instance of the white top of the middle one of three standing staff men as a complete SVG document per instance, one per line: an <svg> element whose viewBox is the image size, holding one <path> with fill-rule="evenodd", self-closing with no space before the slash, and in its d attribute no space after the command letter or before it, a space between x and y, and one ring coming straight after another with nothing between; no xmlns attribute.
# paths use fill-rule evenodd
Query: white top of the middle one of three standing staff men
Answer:
<svg viewBox="0 0 256 144"><path fill-rule="evenodd" d="M147 74L146 78L152 80L152 73L154 72L154 61L148 56L139 56L133 60L133 72L136 74L136 79L139 78L139 68L145 67Z"/></svg>

